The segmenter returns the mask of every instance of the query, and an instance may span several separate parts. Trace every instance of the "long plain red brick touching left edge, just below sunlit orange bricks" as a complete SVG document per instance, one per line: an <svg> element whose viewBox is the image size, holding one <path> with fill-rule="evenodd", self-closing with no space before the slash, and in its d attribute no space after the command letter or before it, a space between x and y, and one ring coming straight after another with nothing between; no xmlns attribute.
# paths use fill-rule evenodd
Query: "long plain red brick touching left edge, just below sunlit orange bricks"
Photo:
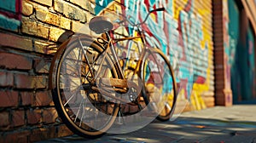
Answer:
<svg viewBox="0 0 256 143"><path fill-rule="evenodd" d="M24 57L19 54L9 54L0 52L1 63L0 66L9 69L21 69L21 70L31 70L32 69L32 59Z"/></svg>

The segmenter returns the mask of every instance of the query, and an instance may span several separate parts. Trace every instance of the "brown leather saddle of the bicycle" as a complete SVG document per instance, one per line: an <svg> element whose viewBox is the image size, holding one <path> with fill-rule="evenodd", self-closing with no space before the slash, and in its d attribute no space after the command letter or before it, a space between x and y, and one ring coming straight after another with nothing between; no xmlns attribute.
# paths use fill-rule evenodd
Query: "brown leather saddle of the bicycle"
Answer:
<svg viewBox="0 0 256 143"><path fill-rule="evenodd" d="M96 16L90 20L89 27L91 31L101 34L106 31L111 31L113 24L106 17Z"/></svg>

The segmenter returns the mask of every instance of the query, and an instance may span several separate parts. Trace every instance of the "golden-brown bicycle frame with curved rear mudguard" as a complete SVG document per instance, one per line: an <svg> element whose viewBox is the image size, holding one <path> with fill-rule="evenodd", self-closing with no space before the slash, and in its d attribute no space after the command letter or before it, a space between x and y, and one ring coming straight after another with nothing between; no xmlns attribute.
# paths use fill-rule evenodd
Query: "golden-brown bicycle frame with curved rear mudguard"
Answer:
<svg viewBox="0 0 256 143"><path fill-rule="evenodd" d="M162 9L158 9L158 10L162 10ZM158 11L158 10L153 10L153 11ZM150 12L151 13L151 12ZM148 17L148 16L147 16ZM146 19L145 19L146 20ZM144 22L145 22L145 20L141 23L141 24L143 24ZM135 70L134 70L134 72L133 72L133 74L137 74L138 72L139 72L139 70L140 70L140 66L141 66L141 64L142 64L142 62L143 62L143 57L144 57L144 55L147 53L147 51L149 51L150 52L150 50L148 50L148 46L146 45L146 40L145 40L145 36L144 36L144 34L143 34L143 30L142 29L140 29L140 25L139 24L137 24L137 25L133 25L133 26L136 26L137 27L137 31L138 31L138 35L139 36L137 36L137 37L124 37L124 38L112 38L112 37L110 37L110 35L109 35L109 32L108 31L106 31L105 32L105 34L107 35L107 37L108 37L108 39L109 40L104 40L103 38L102 38L102 40L104 41L104 43L108 43L107 45L102 45L102 43L100 43L99 41L95 41L94 39L95 39L95 37L93 37L93 36L90 36L90 35L87 35L87 34L82 34L82 33L79 33L78 35L77 35L77 37L73 37L73 39L69 39L69 40L67 40L65 43L63 43L63 44L61 44L61 47L58 49L58 51L57 51L57 53L62 53L65 49L66 49L66 46L67 46L67 44L70 42L70 41L75 41L75 40L78 40L79 41L79 44L80 44L80 46L81 46L81 49L83 49L83 52L84 52L84 54L86 55L86 51L84 51L84 47L83 47L83 45L82 45L82 43L81 43L81 41L80 41L80 37L83 37L83 38L85 38L85 39L87 39L87 40L89 40L89 41L91 41L92 43L94 43L94 42L96 42L97 44L99 44L99 45L101 45L104 49L103 49L103 51L102 51L102 54L103 54L103 58L106 58L106 55L108 54L108 52L107 52L107 50L108 49L110 49L110 54L112 54L113 55L113 63L116 63L115 65L114 65L114 67L113 68L117 68L117 71L119 72L118 74L119 74L119 78L114 78L114 79L112 79L113 80L113 84L111 83L111 85L113 86L113 87L119 87L119 88L128 88L128 84L130 84L130 85L132 85L133 83L132 82L130 82L130 81L127 81L127 80L125 80L125 74L124 74L124 71L122 70L122 68L121 68L121 66L120 66L120 64L119 64L119 57L118 57L118 55L117 55L117 53L116 53L116 51L115 51L115 49L114 49L114 43L119 43L119 42L121 42L121 41L125 41L125 40L133 40L133 39L137 39L137 38L141 38L141 41L142 41L142 43L143 43L143 50L142 50L142 53L140 54L140 56L139 56L139 60L137 61L137 65L136 65L136 67L135 67ZM56 54L56 55L59 55L59 54ZM52 63L51 64L51 68L50 68L50 71L51 72L54 72L55 73L55 71L56 71L56 69L55 69L55 67L58 65L58 60L61 58L61 56L59 55L59 56L55 56L55 58L54 58L54 60L53 61L55 61L54 63ZM103 61L104 59L102 59L102 61ZM87 63L88 64L88 63ZM90 64L88 64L88 65L90 65ZM102 65L102 64L101 64ZM101 68L101 67L100 67ZM100 71L100 68L98 69L98 71ZM92 71L90 71L91 72L91 74L93 75L93 72ZM95 76L95 79L96 79L96 77L98 76L98 73L96 73L96 76ZM52 79L52 77L55 77L55 75L50 75L50 78ZM53 78L54 79L54 78ZM115 81L114 81L115 80ZM121 81L121 80L123 80L123 81ZM121 85L121 84L124 84L123 86ZM55 88L55 80L53 80L53 81L51 81L50 83L49 83L49 88L50 89L54 89ZM113 98L113 97L112 97Z"/></svg>

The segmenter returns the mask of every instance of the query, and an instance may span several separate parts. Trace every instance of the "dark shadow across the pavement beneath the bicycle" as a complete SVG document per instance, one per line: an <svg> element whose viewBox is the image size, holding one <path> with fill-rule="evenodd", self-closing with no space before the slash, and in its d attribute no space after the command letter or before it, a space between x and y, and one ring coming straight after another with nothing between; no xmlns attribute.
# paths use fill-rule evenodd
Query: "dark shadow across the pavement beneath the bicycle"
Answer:
<svg viewBox="0 0 256 143"><path fill-rule="evenodd" d="M154 122L129 134L104 134L90 140L77 135L41 142L253 142L256 141L256 121L233 121L233 118L207 119L178 117L172 122ZM256 119L255 119L256 120Z"/></svg>

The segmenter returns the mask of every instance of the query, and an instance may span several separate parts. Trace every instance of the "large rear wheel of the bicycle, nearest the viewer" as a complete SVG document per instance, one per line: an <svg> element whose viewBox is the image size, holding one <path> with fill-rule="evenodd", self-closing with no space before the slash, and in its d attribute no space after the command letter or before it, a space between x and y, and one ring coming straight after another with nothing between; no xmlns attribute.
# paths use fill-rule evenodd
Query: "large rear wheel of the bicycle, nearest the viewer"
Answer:
<svg viewBox="0 0 256 143"><path fill-rule="evenodd" d="M75 38L61 54L56 67L53 100L63 123L75 134L96 138L114 123L118 101L93 90L97 77L115 78L118 73L103 48L87 38ZM101 67L100 67L101 65Z"/></svg>

